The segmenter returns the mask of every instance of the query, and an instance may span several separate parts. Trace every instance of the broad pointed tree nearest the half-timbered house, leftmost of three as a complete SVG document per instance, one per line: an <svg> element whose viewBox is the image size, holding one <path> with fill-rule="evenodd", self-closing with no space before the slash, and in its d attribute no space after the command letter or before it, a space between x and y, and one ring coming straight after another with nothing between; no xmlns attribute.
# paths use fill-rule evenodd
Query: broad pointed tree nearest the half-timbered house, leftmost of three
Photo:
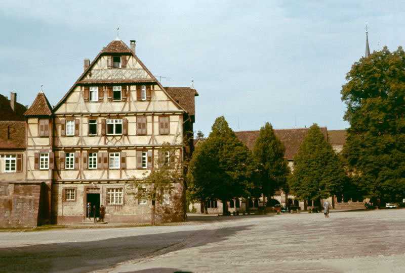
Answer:
<svg viewBox="0 0 405 273"><path fill-rule="evenodd" d="M224 117L215 120L209 137L199 144L190 160L187 181L193 200L227 201L247 197L254 188L254 163L251 151L239 141Z"/></svg>

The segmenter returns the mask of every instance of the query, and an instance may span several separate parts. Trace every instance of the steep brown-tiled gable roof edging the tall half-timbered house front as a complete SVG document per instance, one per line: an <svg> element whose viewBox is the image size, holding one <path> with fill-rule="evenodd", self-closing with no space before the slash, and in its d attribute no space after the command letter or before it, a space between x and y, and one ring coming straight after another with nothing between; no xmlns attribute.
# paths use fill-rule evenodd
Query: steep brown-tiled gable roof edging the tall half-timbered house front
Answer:
<svg viewBox="0 0 405 273"><path fill-rule="evenodd" d="M53 108L53 111L57 110L57 108L62 104L62 102L69 96L69 94L73 91L74 87L79 84L79 83L83 83L84 81L84 77L86 76L86 74L92 69L92 67L96 64L97 60L100 58L100 56L102 56L103 54L110 54L110 53L124 53L124 54L131 54L135 60L141 65L141 67L146 71L146 73L149 74L149 76L151 77L151 80L149 80L148 82L155 82L157 83L157 85L159 85L159 87L161 88L161 90L163 90L168 97L178 106L178 108L180 110L184 110L184 108L178 103L176 102L171 95L168 94L168 92L165 90L165 88L163 88L163 86L160 84L159 81L157 81L157 79L153 76L153 74L145 67L145 65L141 62L141 60L139 60L139 58L135 55L135 52L131 50L131 48L128 47L128 45L121 41L121 40L113 40L111 41L106 47L104 47L100 53L98 53L98 55L96 56L96 58L94 58L93 62L91 62L91 64L89 65L89 67L82 73L82 75L80 75L80 77L77 79L77 81L72 85L72 87L70 87L69 91L67 91L67 93L63 96L63 98L55 105L55 107ZM121 82L121 80L116 80L114 82ZM134 80L133 82L137 82L137 80ZM185 111L186 112L186 111Z"/></svg>

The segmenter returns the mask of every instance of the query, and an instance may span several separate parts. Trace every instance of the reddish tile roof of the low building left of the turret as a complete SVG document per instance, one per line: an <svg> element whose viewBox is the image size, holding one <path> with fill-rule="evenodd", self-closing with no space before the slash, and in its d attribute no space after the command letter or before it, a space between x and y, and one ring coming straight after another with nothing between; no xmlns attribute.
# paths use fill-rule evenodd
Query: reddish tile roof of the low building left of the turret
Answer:
<svg viewBox="0 0 405 273"><path fill-rule="evenodd" d="M25 121L0 121L0 149L25 149Z"/></svg>

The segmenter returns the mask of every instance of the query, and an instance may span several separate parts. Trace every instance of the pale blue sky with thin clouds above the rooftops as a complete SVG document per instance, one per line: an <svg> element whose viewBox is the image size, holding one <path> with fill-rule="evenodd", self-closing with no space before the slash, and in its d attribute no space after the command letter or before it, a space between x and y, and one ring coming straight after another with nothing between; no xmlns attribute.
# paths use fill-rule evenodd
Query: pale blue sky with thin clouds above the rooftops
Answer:
<svg viewBox="0 0 405 273"><path fill-rule="evenodd" d="M195 131L223 115L231 128L343 129L340 90L353 62L403 45L403 1L0 0L0 93L31 104L44 85L55 105L116 37L164 86L194 87ZM114 4L112 4L114 3Z"/></svg>

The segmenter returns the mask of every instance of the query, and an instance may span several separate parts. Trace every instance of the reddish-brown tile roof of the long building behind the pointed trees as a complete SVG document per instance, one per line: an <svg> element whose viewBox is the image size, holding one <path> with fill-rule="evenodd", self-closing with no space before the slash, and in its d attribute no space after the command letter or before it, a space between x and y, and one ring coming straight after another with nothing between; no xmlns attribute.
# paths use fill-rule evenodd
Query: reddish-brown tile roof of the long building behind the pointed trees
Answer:
<svg viewBox="0 0 405 273"><path fill-rule="evenodd" d="M281 140L286 146L286 153L284 157L288 160L294 158L294 154L298 152L298 149L308 134L309 128L299 128L299 129L279 129L274 130L274 134ZM326 127L320 127L320 131L327 138ZM240 141L245 143L249 149L253 150L256 139L259 137L260 131L240 131L235 132Z"/></svg>

